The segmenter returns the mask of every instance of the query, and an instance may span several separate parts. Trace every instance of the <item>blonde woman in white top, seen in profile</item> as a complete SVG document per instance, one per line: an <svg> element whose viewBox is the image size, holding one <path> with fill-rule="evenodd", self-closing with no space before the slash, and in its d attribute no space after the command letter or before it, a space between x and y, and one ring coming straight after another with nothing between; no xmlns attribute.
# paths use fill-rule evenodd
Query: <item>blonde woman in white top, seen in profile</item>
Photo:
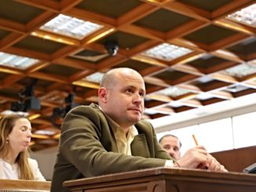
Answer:
<svg viewBox="0 0 256 192"><path fill-rule="evenodd" d="M0 119L0 179L46 180L37 161L28 158L31 122L18 114Z"/></svg>

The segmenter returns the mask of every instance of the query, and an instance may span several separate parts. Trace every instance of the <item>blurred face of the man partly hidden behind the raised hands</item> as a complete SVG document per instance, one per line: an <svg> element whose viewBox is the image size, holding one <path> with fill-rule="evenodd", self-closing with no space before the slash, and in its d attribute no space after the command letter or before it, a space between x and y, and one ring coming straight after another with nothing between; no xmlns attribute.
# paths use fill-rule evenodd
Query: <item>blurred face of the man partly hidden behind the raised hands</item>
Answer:
<svg viewBox="0 0 256 192"><path fill-rule="evenodd" d="M177 136L168 134L159 139L159 145L175 160L181 158L181 141Z"/></svg>

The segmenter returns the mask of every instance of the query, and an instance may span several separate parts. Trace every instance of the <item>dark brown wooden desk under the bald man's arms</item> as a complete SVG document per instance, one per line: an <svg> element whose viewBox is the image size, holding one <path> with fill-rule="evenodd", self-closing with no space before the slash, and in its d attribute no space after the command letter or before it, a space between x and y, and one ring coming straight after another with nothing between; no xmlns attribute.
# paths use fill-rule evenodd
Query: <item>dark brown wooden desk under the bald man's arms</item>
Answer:
<svg viewBox="0 0 256 192"><path fill-rule="evenodd" d="M255 192L256 175L151 168L64 182L73 192Z"/></svg>

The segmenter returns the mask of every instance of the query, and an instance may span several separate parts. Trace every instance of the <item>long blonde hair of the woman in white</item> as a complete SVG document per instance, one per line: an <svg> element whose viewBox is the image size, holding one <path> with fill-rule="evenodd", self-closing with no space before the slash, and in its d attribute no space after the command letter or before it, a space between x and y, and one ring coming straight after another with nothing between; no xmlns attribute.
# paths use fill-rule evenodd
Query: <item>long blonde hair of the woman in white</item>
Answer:
<svg viewBox="0 0 256 192"><path fill-rule="evenodd" d="M20 118L25 117L19 114L10 114L0 119L0 158L5 158L9 153L7 137L13 131L15 122ZM16 162L20 168L19 179L33 180L35 177L28 164L27 158L29 158L28 149L20 152L16 158Z"/></svg>

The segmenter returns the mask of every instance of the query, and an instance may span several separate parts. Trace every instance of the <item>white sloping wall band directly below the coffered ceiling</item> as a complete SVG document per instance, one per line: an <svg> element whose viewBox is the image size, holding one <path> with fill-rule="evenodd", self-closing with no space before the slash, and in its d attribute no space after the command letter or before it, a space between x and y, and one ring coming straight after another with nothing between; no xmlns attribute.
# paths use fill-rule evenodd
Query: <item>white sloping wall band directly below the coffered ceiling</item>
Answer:
<svg viewBox="0 0 256 192"><path fill-rule="evenodd" d="M149 121L155 127L155 132L160 133L254 111L256 93Z"/></svg>

